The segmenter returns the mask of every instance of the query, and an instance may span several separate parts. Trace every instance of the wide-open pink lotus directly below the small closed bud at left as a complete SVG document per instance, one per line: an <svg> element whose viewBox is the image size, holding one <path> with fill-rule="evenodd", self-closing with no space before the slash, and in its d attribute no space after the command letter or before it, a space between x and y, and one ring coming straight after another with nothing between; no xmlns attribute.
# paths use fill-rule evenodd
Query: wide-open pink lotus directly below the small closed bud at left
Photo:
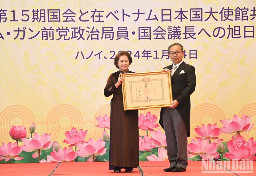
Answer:
<svg viewBox="0 0 256 176"><path fill-rule="evenodd" d="M22 150L25 152L33 152L36 151L32 157L37 158L39 157L38 150L47 150L52 147L53 142L50 142L51 140L51 134L43 133L42 137L35 132L33 138L22 138L22 142L25 144L23 146L20 146Z"/></svg>

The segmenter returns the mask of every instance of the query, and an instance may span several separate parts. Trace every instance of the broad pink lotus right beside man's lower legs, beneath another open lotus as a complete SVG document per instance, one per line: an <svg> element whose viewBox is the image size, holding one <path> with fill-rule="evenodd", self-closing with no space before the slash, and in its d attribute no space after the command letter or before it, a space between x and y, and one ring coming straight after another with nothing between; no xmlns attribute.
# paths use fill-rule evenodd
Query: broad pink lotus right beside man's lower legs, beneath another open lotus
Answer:
<svg viewBox="0 0 256 176"><path fill-rule="evenodd" d="M190 151L190 154L188 154L189 158L197 155L200 155L205 160L219 158L219 153L216 152L216 143L212 142L209 144L209 139L192 139L191 143L188 144L188 150Z"/></svg>

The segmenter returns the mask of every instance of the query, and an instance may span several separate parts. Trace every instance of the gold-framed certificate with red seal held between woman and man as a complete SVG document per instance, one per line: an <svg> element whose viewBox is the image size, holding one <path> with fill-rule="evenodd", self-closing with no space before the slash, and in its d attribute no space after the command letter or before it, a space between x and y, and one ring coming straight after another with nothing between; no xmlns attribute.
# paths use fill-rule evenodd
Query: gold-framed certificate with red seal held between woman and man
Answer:
<svg viewBox="0 0 256 176"><path fill-rule="evenodd" d="M124 110L170 107L170 72L155 71L122 74Z"/></svg>

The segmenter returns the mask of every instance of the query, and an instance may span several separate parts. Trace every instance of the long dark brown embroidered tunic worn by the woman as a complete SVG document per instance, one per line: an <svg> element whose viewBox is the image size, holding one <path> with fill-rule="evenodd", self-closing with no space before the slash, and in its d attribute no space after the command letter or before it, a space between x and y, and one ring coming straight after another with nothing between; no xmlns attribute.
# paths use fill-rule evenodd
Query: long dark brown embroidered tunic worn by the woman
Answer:
<svg viewBox="0 0 256 176"><path fill-rule="evenodd" d="M124 111L122 84L115 87L120 73L123 72L112 73L104 89L106 97L113 94L110 102L110 170L116 169L115 166L125 168L139 165L138 110ZM128 70L127 73L133 72Z"/></svg>

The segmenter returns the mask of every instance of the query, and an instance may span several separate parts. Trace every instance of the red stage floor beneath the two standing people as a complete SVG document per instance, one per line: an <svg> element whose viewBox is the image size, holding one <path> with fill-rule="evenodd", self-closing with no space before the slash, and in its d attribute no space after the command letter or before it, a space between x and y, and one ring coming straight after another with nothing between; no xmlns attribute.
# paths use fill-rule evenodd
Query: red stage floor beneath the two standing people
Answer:
<svg viewBox="0 0 256 176"><path fill-rule="evenodd" d="M121 173L114 173L114 171L108 170L108 162L76 162L76 163L27 163L27 164L0 164L1 176L104 176L104 175L148 175L148 176L162 176L162 175L255 175L256 173L256 161L253 162L253 169L248 169L248 173L241 173L241 170L232 170L232 168L225 169L224 166L211 162L211 168L217 168L217 172L207 170L202 167L201 161L189 161L186 172L164 172L163 169L169 167L168 161L144 161L140 162L138 168L134 168L134 171L128 173L121 170ZM203 169L202 169L203 168ZM242 168L243 169L243 168ZM220 173L222 172L222 173ZM249 173L253 172L253 173Z"/></svg>

